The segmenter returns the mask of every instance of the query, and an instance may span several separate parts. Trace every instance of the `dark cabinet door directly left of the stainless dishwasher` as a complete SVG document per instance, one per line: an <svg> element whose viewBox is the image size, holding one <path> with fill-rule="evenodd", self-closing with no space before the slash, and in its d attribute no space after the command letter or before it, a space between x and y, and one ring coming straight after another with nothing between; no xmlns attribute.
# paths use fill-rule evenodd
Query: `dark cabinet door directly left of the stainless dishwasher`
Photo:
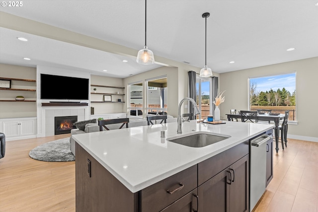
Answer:
<svg viewBox="0 0 318 212"><path fill-rule="evenodd" d="M248 154L230 166L230 209L247 212L249 209L249 164Z"/></svg>

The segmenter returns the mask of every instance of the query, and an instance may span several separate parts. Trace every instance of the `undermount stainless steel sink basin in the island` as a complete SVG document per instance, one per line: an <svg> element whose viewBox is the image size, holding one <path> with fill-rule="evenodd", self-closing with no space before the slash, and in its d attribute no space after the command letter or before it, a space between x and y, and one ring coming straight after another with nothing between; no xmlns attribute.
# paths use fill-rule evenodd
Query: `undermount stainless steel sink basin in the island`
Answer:
<svg viewBox="0 0 318 212"><path fill-rule="evenodd" d="M167 139L167 141L179 143L190 147L204 147L228 138L230 138L230 136L212 135L205 132L199 132L191 135L185 135L183 137L169 138Z"/></svg>

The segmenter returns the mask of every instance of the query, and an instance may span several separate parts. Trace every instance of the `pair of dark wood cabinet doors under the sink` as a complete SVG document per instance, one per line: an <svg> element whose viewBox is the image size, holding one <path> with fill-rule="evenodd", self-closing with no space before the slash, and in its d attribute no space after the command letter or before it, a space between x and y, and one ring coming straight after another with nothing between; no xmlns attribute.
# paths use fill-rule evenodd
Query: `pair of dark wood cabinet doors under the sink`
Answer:
<svg viewBox="0 0 318 212"><path fill-rule="evenodd" d="M198 187L199 212L247 212L248 155Z"/></svg>

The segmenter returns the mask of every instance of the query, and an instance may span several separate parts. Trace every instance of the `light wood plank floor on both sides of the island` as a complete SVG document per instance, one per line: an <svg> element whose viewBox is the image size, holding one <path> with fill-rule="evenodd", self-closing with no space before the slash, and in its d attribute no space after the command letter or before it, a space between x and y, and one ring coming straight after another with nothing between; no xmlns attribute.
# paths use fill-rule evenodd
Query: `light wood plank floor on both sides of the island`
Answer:
<svg viewBox="0 0 318 212"><path fill-rule="evenodd" d="M69 137L7 141L0 159L0 212L75 212L75 162L44 162L29 151ZM255 212L318 212L318 142L289 139L274 152L274 178Z"/></svg>

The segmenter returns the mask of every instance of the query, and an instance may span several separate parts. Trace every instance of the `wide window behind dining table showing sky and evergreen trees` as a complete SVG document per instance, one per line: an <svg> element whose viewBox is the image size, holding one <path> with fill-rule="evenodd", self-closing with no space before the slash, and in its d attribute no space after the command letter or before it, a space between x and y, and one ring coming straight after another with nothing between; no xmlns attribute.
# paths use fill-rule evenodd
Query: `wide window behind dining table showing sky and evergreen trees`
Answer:
<svg viewBox="0 0 318 212"><path fill-rule="evenodd" d="M296 72L253 77L248 80L249 109L269 109L296 121Z"/></svg>

